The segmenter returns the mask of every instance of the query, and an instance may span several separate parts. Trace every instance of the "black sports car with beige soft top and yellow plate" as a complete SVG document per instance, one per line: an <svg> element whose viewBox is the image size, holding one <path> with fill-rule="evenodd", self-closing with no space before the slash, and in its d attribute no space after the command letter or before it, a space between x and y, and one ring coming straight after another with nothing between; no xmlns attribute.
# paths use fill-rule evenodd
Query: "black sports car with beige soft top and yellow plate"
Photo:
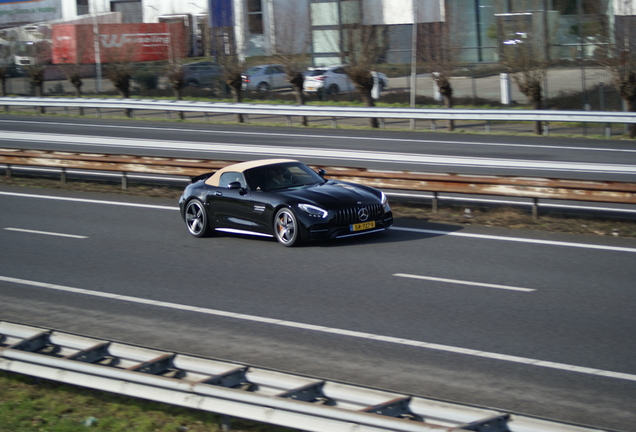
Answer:
<svg viewBox="0 0 636 432"><path fill-rule="evenodd" d="M327 180L290 159L241 162L192 179L179 207L188 231L276 237L282 245L385 230L393 214L384 193Z"/></svg>

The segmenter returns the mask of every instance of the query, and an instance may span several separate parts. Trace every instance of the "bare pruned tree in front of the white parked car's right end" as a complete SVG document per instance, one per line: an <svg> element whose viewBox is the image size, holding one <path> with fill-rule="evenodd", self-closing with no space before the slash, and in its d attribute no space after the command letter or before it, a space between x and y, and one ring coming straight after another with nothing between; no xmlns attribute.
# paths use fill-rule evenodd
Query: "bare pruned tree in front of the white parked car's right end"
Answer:
<svg viewBox="0 0 636 432"><path fill-rule="evenodd" d="M347 76L353 82L362 102L368 107L374 107L375 102L371 95L374 79L371 71L386 51L386 26L343 24L340 42L340 58L346 65ZM369 126L377 128L378 119L370 118Z"/></svg>

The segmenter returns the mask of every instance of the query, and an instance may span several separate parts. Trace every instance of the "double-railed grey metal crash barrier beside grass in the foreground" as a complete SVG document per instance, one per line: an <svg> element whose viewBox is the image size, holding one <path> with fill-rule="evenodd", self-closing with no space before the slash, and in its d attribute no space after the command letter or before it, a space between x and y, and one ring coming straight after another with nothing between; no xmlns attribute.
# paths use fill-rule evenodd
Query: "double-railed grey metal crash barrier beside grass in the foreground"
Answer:
<svg viewBox="0 0 636 432"><path fill-rule="evenodd" d="M600 432L0 321L0 369L318 432Z"/></svg>

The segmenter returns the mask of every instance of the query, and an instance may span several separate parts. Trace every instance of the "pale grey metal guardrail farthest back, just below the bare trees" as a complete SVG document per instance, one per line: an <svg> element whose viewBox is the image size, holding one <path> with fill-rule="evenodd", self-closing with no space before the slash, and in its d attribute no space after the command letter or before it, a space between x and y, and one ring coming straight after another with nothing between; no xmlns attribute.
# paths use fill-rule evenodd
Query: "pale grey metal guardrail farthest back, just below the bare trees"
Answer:
<svg viewBox="0 0 636 432"><path fill-rule="evenodd" d="M381 126L385 119L392 120L476 120L486 122L486 132L490 132L492 121L542 121L544 134L549 132L549 122L576 123L636 123L636 116L630 112L610 111L554 111L554 110L478 110L478 109L423 109L423 108L378 108L378 107L325 107L310 105L269 105L245 103L213 103L178 100L147 99L90 99L90 98L53 98L53 97L0 97L0 106L9 109L11 106L33 107L37 112L40 107L63 108L67 112L71 108L94 108L98 115L102 109L124 110L131 116L135 111L190 112L200 114L243 114L281 116L291 125L293 117L328 117L332 126L337 126L338 118L377 118ZM414 128L411 124L411 128ZM605 135L611 134L605 128Z"/></svg>

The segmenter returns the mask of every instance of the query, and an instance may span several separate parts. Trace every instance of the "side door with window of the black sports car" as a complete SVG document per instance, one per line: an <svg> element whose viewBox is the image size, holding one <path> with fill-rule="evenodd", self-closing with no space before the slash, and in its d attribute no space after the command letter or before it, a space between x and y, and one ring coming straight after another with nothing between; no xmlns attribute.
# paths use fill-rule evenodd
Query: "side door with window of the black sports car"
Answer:
<svg viewBox="0 0 636 432"><path fill-rule="evenodd" d="M236 187L237 182L240 187ZM219 186L208 195L208 204L217 228L253 230L252 201L242 173L223 173Z"/></svg>

